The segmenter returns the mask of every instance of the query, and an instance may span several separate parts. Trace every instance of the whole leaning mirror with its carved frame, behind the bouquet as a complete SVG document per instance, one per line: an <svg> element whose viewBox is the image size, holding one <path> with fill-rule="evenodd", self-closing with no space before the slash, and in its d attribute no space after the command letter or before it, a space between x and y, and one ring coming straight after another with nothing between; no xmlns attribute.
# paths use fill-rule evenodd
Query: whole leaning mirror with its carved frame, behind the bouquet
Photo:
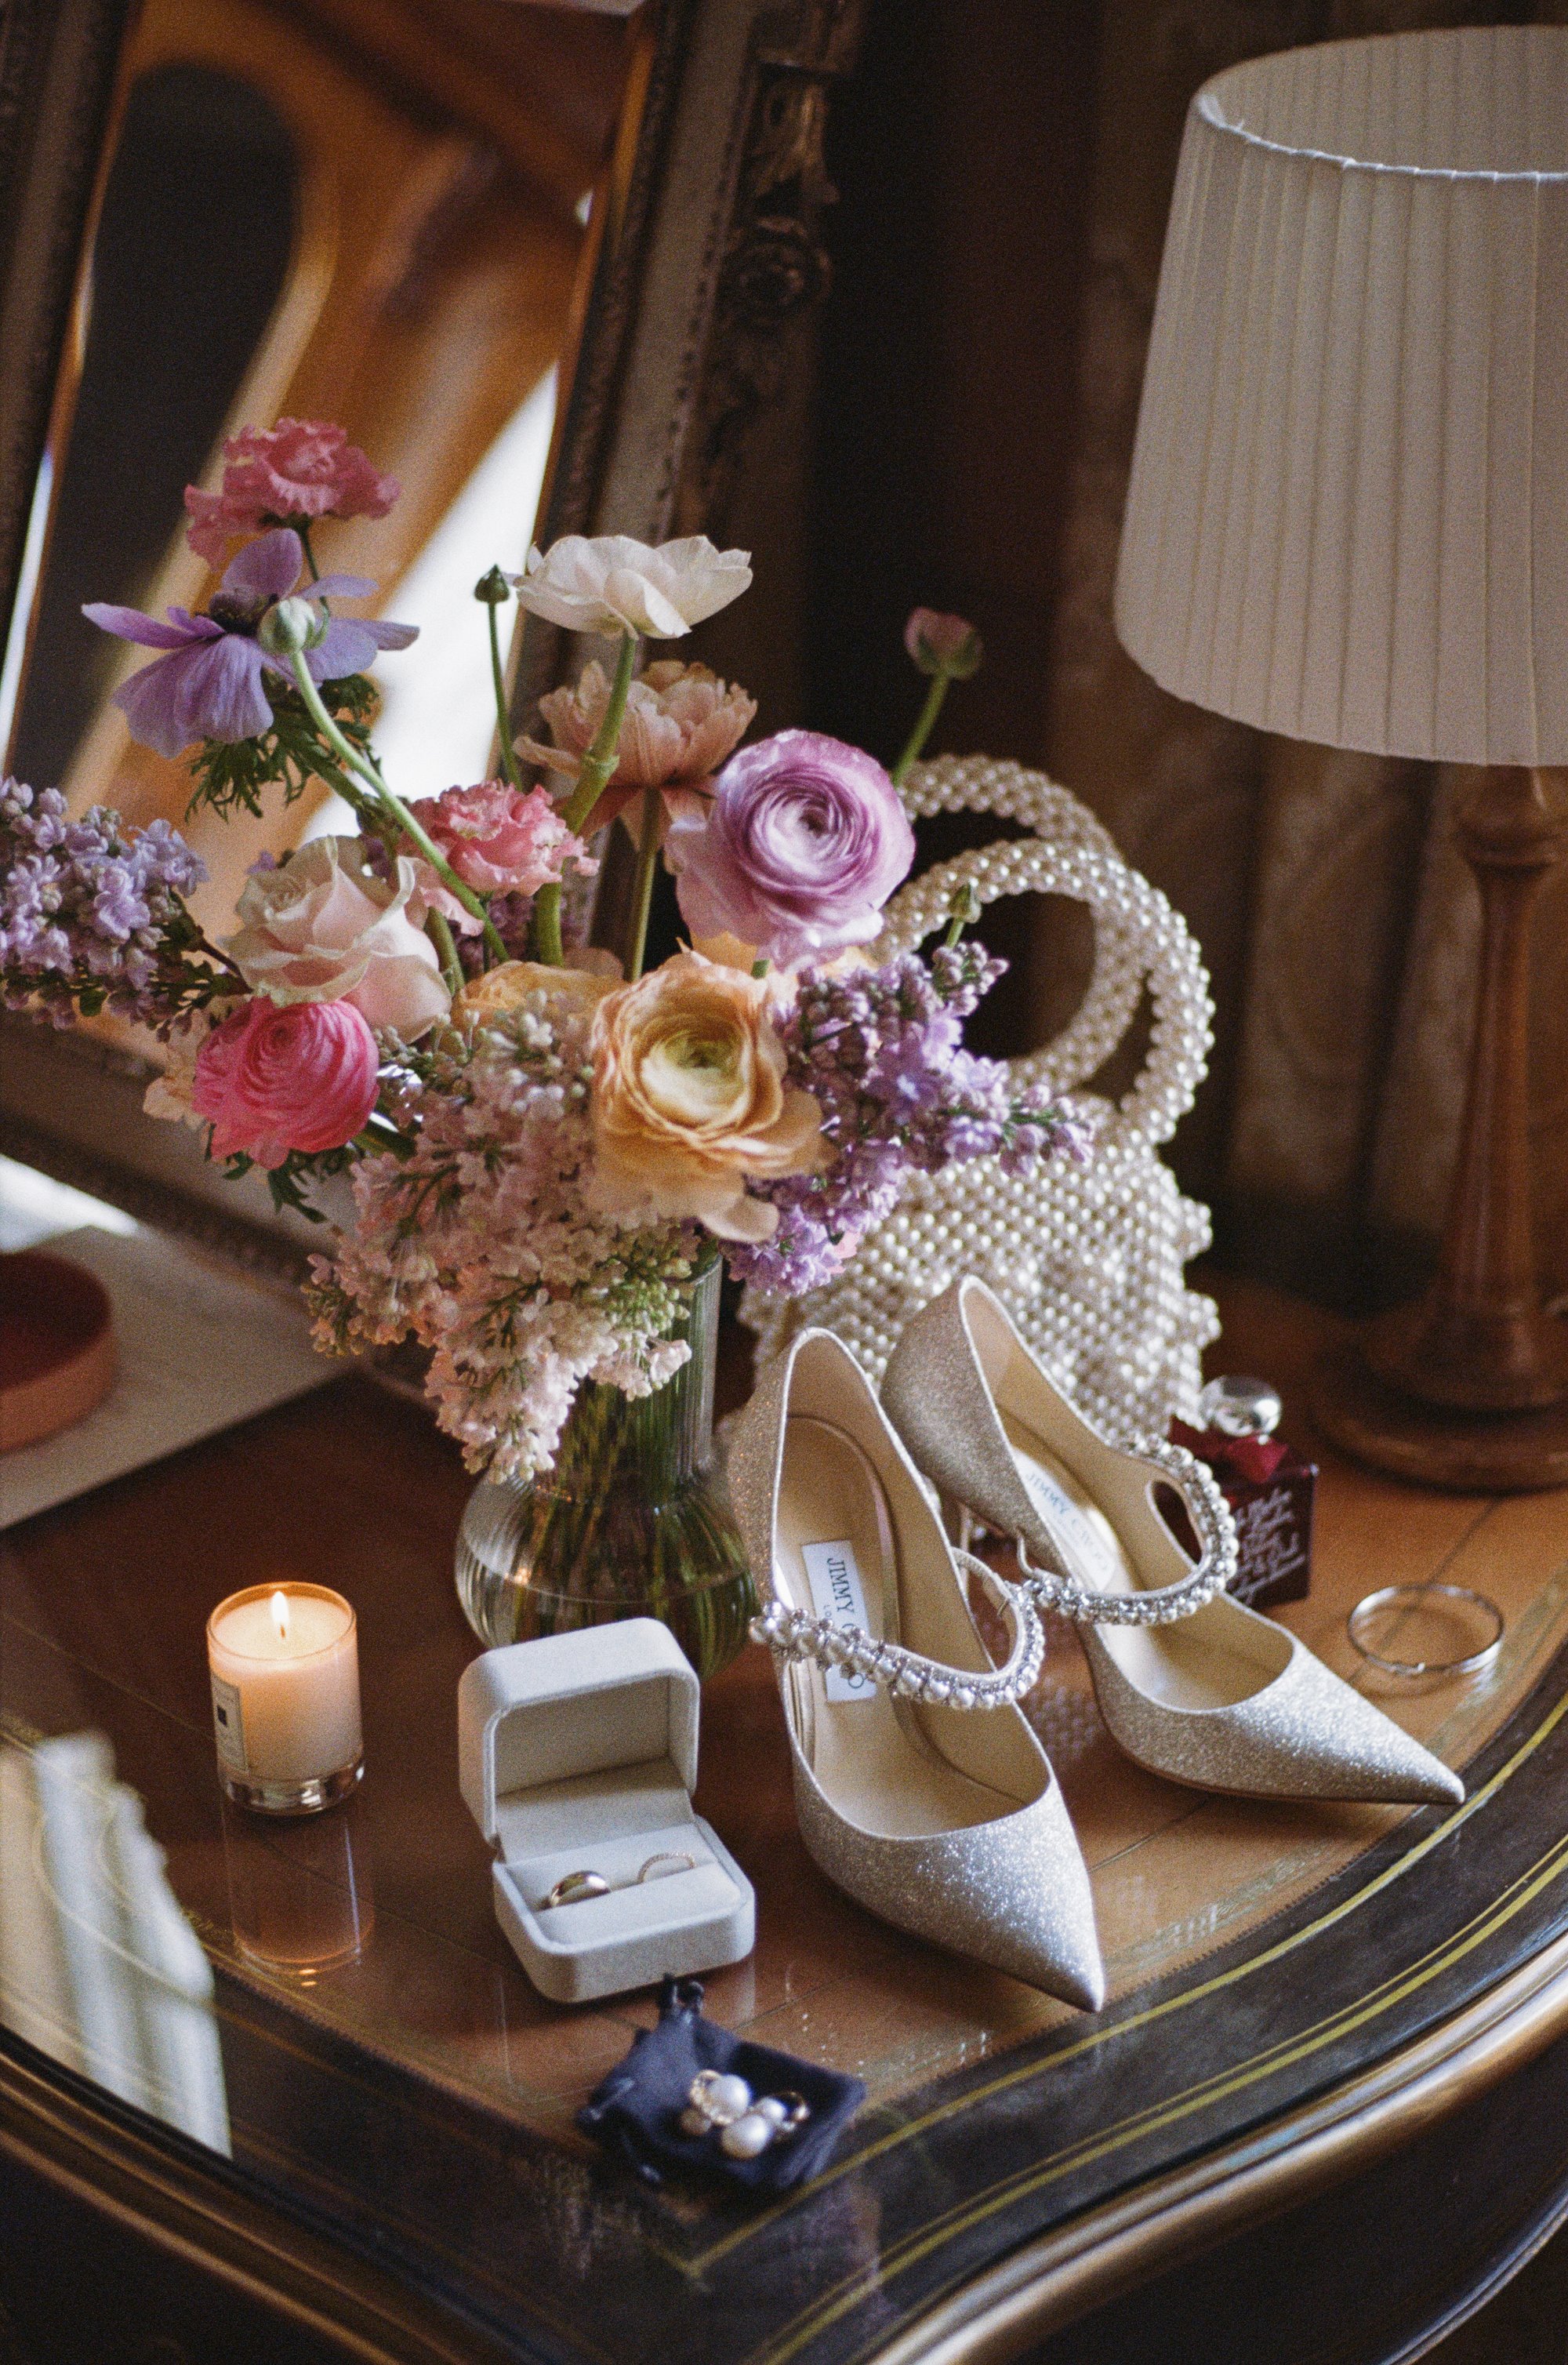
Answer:
<svg viewBox="0 0 1568 2365"><path fill-rule="evenodd" d="M199 605L184 482L218 482L239 423L305 416L341 421L402 482L390 518L329 520L317 544L324 570L376 577L378 613L421 624L378 667L388 769L416 792L478 778L492 700L475 577L516 565L530 530L726 534L728 490L769 473L754 428L825 293L828 92L861 14L104 0L88 21L12 0L0 88L31 137L0 149L9 769L78 806L180 821L182 764L130 743L109 702L137 653L80 603ZM788 563L776 572L783 608L759 608L759 629L788 665ZM518 721L575 662L530 620ZM244 828L196 816L199 915L227 927L260 851L331 825L319 788ZM144 1119L149 1074L109 1026L0 1015L14 1156L298 1270L307 1227Z"/></svg>

